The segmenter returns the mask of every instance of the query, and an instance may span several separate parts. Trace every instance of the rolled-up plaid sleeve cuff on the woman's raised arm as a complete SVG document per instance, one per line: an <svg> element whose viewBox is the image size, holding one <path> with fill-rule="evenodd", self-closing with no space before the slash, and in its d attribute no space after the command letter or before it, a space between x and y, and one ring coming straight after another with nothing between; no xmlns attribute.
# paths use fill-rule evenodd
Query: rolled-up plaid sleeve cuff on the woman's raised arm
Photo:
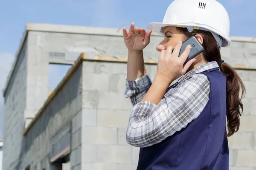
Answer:
<svg viewBox="0 0 256 170"><path fill-rule="evenodd" d="M145 75L134 81L128 81L126 79L125 85L125 98L130 98L131 103L136 105L143 99L148 89L152 85L152 82L147 72Z"/></svg>

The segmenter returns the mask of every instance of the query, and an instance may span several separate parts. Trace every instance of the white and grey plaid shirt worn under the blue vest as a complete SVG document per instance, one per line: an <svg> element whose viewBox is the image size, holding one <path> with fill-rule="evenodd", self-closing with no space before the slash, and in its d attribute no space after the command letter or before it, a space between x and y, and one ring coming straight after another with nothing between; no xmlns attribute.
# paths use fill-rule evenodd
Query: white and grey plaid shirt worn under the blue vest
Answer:
<svg viewBox="0 0 256 170"><path fill-rule="evenodd" d="M189 71L166 92L158 105L140 102L152 84L148 72L134 81L126 79L125 97L134 105L127 127L127 142L135 147L148 147L196 119L207 104L210 92L207 76L197 73L217 67L217 62L213 61Z"/></svg>

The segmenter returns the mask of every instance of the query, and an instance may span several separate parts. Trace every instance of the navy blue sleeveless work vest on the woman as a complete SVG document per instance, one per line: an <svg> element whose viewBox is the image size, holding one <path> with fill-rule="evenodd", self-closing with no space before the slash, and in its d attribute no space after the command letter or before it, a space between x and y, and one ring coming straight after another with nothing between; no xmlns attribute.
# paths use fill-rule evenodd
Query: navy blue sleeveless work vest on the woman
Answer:
<svg viewBox="0 0 256 170"><path fill-rule="evenodd" d="M226 77L218 68L202 72L210 82L209 101L182 130L140 148L137 170L228 170ZM177 85L172 85L169 89Z"/></svg>

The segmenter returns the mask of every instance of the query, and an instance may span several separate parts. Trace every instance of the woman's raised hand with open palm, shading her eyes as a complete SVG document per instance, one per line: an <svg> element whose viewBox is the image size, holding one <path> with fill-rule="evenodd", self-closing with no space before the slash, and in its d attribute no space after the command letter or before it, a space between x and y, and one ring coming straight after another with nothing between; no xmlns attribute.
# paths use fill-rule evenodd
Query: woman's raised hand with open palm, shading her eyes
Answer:
<svg viewBox="0 0 256 170"><path fill-rule="evenodd" d="M150 41L150 34L152 31L145 31L144 28L135 28L134 22L131 23L129 32L123 27L123 37L128 51L141 51Z"/></svg>

